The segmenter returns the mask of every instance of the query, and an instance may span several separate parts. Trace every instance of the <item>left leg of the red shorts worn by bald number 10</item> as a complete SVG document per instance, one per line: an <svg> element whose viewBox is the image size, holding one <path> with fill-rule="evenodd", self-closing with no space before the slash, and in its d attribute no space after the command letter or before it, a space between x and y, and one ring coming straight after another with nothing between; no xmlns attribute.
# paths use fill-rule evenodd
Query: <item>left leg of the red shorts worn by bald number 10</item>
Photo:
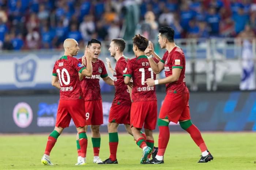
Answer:
<svg viewBox="0 0 256 170"><path fill-rule="evenodd" d="M56 116L56 127L68 127L71 121L71 115L68 113L67 102L69 100L60 100Z"/></svg>

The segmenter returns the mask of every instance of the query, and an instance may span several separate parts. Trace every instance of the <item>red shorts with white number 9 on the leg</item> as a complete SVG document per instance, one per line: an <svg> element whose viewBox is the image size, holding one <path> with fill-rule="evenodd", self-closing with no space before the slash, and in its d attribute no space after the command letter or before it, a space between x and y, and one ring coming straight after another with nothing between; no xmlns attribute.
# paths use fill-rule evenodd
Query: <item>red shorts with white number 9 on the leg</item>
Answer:
<svg viewBox="0 0 256 170"><path fill-rule="evenodd" d="M87 125L103 124L102 100L89 100L84 102Z"/></svg>

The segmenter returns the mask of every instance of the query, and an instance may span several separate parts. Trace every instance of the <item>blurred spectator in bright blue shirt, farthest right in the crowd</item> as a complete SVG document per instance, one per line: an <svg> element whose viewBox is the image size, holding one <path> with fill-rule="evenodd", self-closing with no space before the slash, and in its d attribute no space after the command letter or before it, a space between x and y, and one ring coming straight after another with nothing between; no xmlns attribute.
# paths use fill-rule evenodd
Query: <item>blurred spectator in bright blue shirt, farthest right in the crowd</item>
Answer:
<svg viewBox="0 0 256 170"><path fill-rule="evenodd" d="M249 21L249 16L244 13L243 8L238 8L238 12L233 15L233 20L235 23L235 31L238 34L245 27L245 24Z"/></svg>

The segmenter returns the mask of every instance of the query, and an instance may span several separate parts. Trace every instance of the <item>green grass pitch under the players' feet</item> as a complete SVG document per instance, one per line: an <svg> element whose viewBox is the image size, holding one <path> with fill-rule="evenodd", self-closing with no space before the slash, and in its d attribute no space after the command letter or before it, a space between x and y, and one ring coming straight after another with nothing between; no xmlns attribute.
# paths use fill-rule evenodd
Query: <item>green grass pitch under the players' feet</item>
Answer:
<svg viewBox="0 0 256 170"><path fill-rule="evenodd" d="M88 136L87 165L75 166L76 134L60 135L50 155L54 166L41 164L47 134L1 135L0 169L175 169L175 170L253 170L256 169L255 133L203 133L204 141L214 156L208 163L197 163L200 150L187 133L171 133L164 164L140 165L142 150L128 134L119 134L118 165L96 165L93 162L91 135ZM157 146L158 133L154 134ZM102 134L100 158L109 156L108 134Z"/></svg>

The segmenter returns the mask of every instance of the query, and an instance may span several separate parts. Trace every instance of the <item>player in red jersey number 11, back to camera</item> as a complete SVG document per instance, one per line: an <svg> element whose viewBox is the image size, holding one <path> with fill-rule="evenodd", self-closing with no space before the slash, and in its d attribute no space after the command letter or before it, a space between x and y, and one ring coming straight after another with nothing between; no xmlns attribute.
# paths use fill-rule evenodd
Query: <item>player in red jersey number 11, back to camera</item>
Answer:
<svg viewBox="0 0 256 170"><path fill-rule="evenodd" d="M133 37L133 52L136 58L129 60L127 69L124 71L125 84L133 80L132 87L132 106L131 106L131 130L137 145L143 149L143 155L140 163L147 161L147 157L151 154L154 146L153 130L157 122L157 97L155 87L147 87L146 79L155 79L155 74L150 68L147 56L144 54L148 45L148 40L141 36ZM155 59L155 62L158 62ZM140 134L144 124L146 139L148 144ZM149 146L149 147L148 147Z"/></svg>

